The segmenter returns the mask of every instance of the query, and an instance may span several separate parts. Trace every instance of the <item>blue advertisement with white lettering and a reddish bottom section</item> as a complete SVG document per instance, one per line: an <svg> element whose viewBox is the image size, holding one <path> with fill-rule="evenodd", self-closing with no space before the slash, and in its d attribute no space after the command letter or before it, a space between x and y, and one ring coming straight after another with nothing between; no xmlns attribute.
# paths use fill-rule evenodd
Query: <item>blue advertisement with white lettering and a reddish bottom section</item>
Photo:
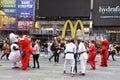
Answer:
<svg viewBox="0 0 120 80"><path fill-rule="evenodd" d="M18 29L32 29L34 15L34 0L18 0Z"/></svg>

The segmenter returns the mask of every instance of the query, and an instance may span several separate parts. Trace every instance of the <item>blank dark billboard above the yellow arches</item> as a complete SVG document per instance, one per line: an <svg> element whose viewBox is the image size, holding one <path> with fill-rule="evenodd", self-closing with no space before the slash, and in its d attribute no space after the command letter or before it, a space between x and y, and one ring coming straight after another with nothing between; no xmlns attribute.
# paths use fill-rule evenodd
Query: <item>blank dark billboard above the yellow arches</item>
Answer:
<svg viewBox="0 0 120 80"><path fill-rule="evenodd" d="M38 15L40 17L89 17L90 1L91 0L38 0Z"/></svg>

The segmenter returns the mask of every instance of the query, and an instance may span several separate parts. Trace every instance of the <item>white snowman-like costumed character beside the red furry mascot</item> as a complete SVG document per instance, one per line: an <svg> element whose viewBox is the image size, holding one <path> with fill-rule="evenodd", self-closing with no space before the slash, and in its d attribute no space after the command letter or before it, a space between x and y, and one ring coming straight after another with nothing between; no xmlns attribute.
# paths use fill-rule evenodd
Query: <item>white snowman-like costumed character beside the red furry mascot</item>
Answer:
<svg viewBox="0 0 120 80"><path fill-rule="evenodd" d="M10 46L11 52L9 55L9 60L13 63L13 68L16 68L18 67L17 63L20 62L20 58L21 58L17 35L15 35L14 33L10 33L9 39L11 42L11 46Z"/></svg>

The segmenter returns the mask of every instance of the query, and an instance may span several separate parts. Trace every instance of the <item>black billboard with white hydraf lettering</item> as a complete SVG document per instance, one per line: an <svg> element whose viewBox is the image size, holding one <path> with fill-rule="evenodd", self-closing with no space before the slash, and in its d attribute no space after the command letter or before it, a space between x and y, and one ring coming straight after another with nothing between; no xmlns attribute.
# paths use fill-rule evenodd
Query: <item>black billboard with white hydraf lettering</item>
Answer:
<svg viewBox="0 0 120 80"><path fill-rule="evenodd" d="M94 26L120 26L120 0L94 0Z"/></svg>

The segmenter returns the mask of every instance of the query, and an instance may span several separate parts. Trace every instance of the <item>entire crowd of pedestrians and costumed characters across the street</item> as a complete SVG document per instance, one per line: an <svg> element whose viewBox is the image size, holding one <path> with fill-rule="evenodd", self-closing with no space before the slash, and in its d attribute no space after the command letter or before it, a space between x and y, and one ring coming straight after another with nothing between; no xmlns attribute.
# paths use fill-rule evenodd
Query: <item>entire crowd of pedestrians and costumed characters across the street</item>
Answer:
<svg viewBox="0 0 120 80"><path fill-rule="evenodd" d="M12 37L10 35L12 34ZM1 43L1 60L6 55L6 59L13 63L12 68L21 67L22 70L27 70L30 67L30 56L33 57L32 68L40 68L39 57L41 52L47 56L49 62L54 58L54 63L59 64L61 53L64 54L63 73L67 73L67 68L70 67L71 76L80 71L80 75L85 76L86 65L90 65L91 70L96 70L96 56L100 55L100 66L107 67L110 55L113 61L116 61L115 54L118 55L119 45L111 43L108 40L103 40L97 44L94 40L60 40L54 39L42 43L40 39L31 40L28 35L19 36L14 33L9 35L9 39ZM14 38L13 38L14 35ZM25 55L21 52L24 50ZM17 56L17 57L16 57ZM78 64L80 67L78 68ZM21 64L18 66L17 64Z"/></svg>

